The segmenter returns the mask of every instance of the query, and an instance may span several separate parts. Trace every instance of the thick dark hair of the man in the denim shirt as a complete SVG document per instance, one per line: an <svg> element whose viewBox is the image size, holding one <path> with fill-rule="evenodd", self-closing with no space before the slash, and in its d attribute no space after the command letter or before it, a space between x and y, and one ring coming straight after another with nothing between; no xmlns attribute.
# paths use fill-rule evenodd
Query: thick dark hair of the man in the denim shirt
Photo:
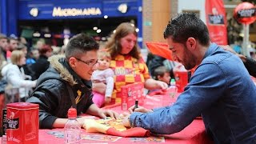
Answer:
<svg viewBox="0 0 256 144"><path fill-rule="evenodd" d="M185 44L187 38L198 39L202 46L210 44L207 26L193 13L178 14L177 18L170 20L164 32L164 38L171 38L174 42Z"/></svg>

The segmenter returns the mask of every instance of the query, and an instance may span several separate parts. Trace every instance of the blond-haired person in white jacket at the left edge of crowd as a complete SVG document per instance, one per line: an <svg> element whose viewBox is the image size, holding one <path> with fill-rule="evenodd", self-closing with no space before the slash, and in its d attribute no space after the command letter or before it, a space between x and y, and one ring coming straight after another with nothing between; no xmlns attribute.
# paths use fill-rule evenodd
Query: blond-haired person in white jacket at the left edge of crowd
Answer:
<svg viewBox="0 0 256 144"><path fill-rule="evenodd" d="M36 86L36 80L26 80L30 76L24 73L22 68L26 64L26 57L22 50L14 50L10 56L10 63L2 68L2 76L8 84L14 88L18 88L19 97L25 102L29 96L31 88Z"/></svg>

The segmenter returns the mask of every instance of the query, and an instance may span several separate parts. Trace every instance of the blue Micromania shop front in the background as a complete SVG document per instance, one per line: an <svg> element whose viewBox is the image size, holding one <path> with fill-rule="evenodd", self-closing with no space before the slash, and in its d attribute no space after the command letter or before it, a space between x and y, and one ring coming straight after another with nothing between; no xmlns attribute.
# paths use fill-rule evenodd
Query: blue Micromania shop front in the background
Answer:
<svg viewBox="0 0 256 144"><path fill-rule="evenodd" d="M2 0L1 33L27 39L90 34L106 41L121 22L133 22L142 46L142 0ZM3 7L5 7L3 9Z"/></svg>

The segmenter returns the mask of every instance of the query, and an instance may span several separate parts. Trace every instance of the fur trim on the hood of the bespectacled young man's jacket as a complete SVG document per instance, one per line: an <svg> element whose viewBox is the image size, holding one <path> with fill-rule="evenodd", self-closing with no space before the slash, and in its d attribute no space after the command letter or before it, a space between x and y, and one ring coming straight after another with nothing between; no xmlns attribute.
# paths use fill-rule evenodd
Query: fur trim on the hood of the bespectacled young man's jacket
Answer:
<svg viewBox="0 0 256 144"><path fill-rule="evenodd" d="M60 77L64 81L69 82L71 86L78 84L78 82L76 82L72 74L70 74L69 70L67 70L61 62L59 62L59 60L62 58L65 58L65 55L58 54L48 58L48 61L50 62L50 65L58 71Z"/></svg>

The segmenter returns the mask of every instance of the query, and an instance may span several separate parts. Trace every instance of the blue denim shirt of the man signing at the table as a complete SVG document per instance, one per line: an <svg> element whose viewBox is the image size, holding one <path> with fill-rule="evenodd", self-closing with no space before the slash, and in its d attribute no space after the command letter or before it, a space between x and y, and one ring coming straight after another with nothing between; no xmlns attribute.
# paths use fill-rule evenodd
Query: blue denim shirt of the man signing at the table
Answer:
<svg viewBox="0 0 256 144"><path fill-rule="evenodd" d="M202 114L215 143L256 143L256 87L242 60L212 43L173 106L134 112L132 126L173 134Z"/></svg>

